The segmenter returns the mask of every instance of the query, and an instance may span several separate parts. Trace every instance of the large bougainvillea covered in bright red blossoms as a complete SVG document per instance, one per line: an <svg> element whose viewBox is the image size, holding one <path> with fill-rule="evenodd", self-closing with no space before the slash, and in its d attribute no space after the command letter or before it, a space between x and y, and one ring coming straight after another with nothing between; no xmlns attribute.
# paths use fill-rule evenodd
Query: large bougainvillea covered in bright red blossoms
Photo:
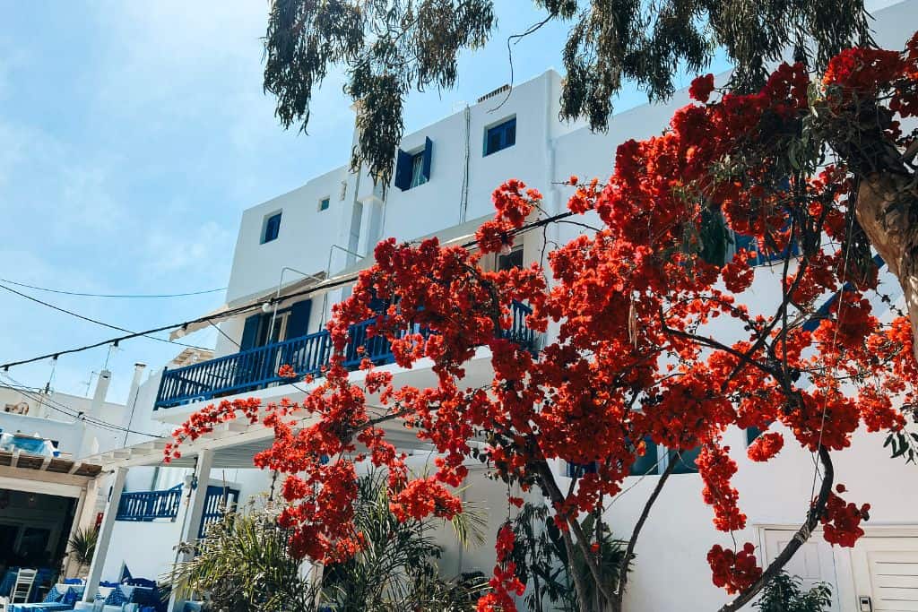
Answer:
<svg viewBox="0 0 918 612"><path fill-rule="evenodd" d="M506 252L522 228L548 222L542 195L517 180L494 192L497 214L478 229L475 250L437 239L379 243L373 267L333 308L330 364L305 396L208 406L175 432L167 457L232 418L272 428L274 444L254 462L285 474L279 520L294 534L291 551L326 563L364 546L353 526L358 463L386 470L397 517L448 518L461 511L466 463L481 459L490 476L545 496L565 543L588 562L575 576L578 590L592 577L601 608L618 610L626 576L618 593L601 586L578 517L624 495L630 466L657 445L674 457L700 449L700 501L711 506L714 528L745 529L742 491L732 484L739 465L724 434L758 428L751 461L796 444L819 455L823 481L806 500L799 537L767 568L752 543L711 548L712 581L737 595L723 609L755 596L820 525L831 544L853 546L869 507L845 501L844 487L831 491L831 453L845 451L858 428L901 435L916 403L909 318L881 322L873 313L870 298L883 296L865 232L879 221L862 206L874 197L865 189L883 181L898 190L891 199L884 192L887 215L911 206L916 132L903 133L900 121L918 114L918 34L901 53L846 50L821 81L783 64L760 92L716 91L711 75L692 83L694 102L660 136L622 143L605 183L566 182L570 212L600 227L551 250L547 263L503 271L482 263ZM878 178L890 169L898 178ZM749 239L740 247L730 236ZM911 249L911 240L896 249ZM896 249L880 253L898 257L890 270L904 279L911 264ZM769 259L780 263L752 265ZM746 293L759 274L777 304ZM911 291L906 284L907 302ZM557 330L541 347L511 333L517 303L532 309L532 331ZM397 369L369 359L361 373L348 371L351 330L371 318L366 341L388 343L400 368L427 360L435 384L401 384ZM476 354L489 359L484 383L466 376ZM433 473L409 471L388 440L394 427L436 451ZM558 460L591 469L565 492L549 467ZM666 475L654 498L664 484ZM506 562L510 546L502 529L483 612L514 609L509 594L520 584Z"/></svg>

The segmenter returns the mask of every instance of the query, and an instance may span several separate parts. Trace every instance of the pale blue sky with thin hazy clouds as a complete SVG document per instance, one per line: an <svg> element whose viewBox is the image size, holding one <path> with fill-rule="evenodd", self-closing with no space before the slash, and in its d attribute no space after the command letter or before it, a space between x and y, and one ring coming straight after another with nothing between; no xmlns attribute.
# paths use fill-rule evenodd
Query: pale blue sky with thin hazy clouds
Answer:
<svg viewBox="0 0 918 612"><path fill-rule="evenodd" d="M498 35L463 56L458 86L414 94L410 131L509 81L506 39L540 13L498 5ZM351 142L341 72L314 98L309 135L285 131L262 92L264 0L0 0L0 278L94 293L223 287L241 211L341 165ZM514 48L516 80L560 67L567 27ZM629 91L619 109L644 101ZM344 137L346 136L346 138ZM123 328L198 317L222 294L168 300L35 295ZM0 362L118 335L0 291ZM213 346L214 331L187 341ZM134 339L113 351L109 398L123 401L134 362L161 367L182 347ZM83 395L105 348L64 356L53 386ZM17 366L43 386L50 360Z"/></svg>

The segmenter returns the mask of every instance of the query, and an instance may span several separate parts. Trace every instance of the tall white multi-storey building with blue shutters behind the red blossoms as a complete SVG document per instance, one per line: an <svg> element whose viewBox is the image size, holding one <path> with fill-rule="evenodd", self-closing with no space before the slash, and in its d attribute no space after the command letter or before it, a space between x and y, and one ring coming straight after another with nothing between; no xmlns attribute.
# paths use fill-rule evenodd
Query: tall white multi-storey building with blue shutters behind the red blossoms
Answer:
<svg viewBox="0 0 918 612"><path fill-rule="evenodd" d="M875 17L879 45L901 47L918 23L918 1L890 4ZM355 271L370 264L366 254L379 239L435 234L442 242L468 241L477 225L493 214L493 189L511 177L540 189L546 212L560 212L565 191L558 183L571 174L608 176L617 144L659 133L673 110L688 100L686 92L678 92L667 105L621 113L611 121L608 133L593 134L584 125L558 121L560 88L561 76L547 71L514 87L502 104L506 90L498 89L474 106L407 134L399 148L393 184L385 190L374 187L365 171L351 172L341 165L246 210L226 306L211 314L222 332L215 357L182 367L170 364L151 373L129 400L136 406L130 428L165 432L218 399L254 396L267 403L301 398L301 389L308 384L285 384L274 376L276 367L291 363L298 373L318 369L328 348L323 323L330 306L348 292L347 284L339 280L353 279ZM551 227L548 238L565 241L578 230ZM541 232L531 232L521 242L520 249L495 265L539 257ZM767 265L758 268L747 301L769 303L773 297L768 288L776 283L770 277L776 273ZM308 292L313 285L319 289ZM271 303L276 296L283 299L275 308ZM207 325L191 325L182 333ZM469 384L490 380L488 357L487 350L479 350L469 362ZM419 362L409 371L394 364L384 367L400 384L433 381L430 363ZM355 379L362 375L353 373ZM767 466L754 464L745 458L746 436L738 429L727 436L740 464L734 485L748 516L747 529L736 539L757 542L760 562L765 564L800 527L812 487L812 457L786 448ZM146 515L142 508L131 514L122 504L124 520L115 520L117 512L108 513L92 579L117 577L124 564L135 576L154 578L166 572L175 558L174 544L195 536L213 510L214 499L229 490L243 500L269 488L270 474L251 469L251 459L271 440L271 431L259 425L234 422L188 444L172 467L161 463L163 440L149 441L134 434L128 436L126 448L95 456L115 474L113 509L122 504L124 491L158 492L155 498L161 501ZM417 440L404 433L393 431L392 440L406 449L418 447ZM913 465L890 460L882 446L881 435L863 433L852 450L838 453L835 459L836 473L852 499L873 505L867 537L852 551L833 549L817 535L788 568L808 582L833 584L834 610L918 610L918 571L908 572L918 567L914 509L918 472ZM562 475L564 469L558 466ZM192 470L199 483L195 489L173 488L190 481ZM653 473L631 478L628 493L610 506L607 519L619 537L627 538L655 478ZM505 516L497 511L506 506L505 491L480 478L472 482L466 497L495 504L490 529L497 529ZM212 487L209 495L200 483ZM690 466L678 470L667 484L636 551L627 609L716 609L728 600L711 584L705 555L712 543L732 541L713 528L711 508L702 502L701 488L700 477ZM128 498L151 499L149 495ZM481 570L487 574L493 562L489 544L465 553L447 551L443 573Z"/></svg>

